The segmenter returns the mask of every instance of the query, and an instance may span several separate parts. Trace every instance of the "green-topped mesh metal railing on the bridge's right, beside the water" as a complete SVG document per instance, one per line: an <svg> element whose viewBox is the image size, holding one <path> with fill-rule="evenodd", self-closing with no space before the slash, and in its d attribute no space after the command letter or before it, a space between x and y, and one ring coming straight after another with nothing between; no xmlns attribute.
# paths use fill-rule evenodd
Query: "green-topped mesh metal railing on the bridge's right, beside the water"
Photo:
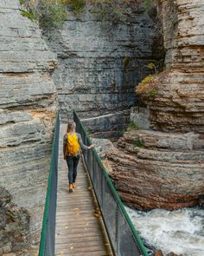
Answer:
<svg viewBox="0 0 204 256"><path fill-rule="evenodd" d="M86 128L75 111L73 111L73 120L76 122L77 132L80 133L83 142L90 145L91 140ZM96 150L84 150L83 155L114 253L117 256L148 256L143 241L125 211Z"/></svg>

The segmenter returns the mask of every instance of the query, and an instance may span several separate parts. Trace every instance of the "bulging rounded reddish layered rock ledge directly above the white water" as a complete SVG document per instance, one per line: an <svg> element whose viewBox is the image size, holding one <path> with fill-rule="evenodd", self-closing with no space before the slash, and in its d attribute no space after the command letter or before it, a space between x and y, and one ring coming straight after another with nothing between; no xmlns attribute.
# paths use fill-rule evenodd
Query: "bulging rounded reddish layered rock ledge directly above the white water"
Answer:
<svg viewBox="0 0 204 256"><path fill-rule="evenodd" d="M204 194L204 152L199 135L130 130L108 154L122 200L137 209L177 209Z"/></svg>

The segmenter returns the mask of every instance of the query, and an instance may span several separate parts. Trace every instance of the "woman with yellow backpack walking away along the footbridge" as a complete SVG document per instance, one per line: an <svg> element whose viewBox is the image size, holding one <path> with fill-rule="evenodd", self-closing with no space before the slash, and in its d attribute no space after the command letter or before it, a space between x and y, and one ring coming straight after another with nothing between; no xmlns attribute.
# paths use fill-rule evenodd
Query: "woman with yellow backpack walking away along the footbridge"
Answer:
<svg viewBox="0 0 204 256"><path fill-rule="evenodd" d="M77 166L80 161L80 147L83 149L92 149L93 145L86 146L80 134L76 133L76 124L74 121L69 121L67 125L67 134L63 140L64 159L67 160L69 192L73 192L76 187L75 181L77 176Z"/></svg>

